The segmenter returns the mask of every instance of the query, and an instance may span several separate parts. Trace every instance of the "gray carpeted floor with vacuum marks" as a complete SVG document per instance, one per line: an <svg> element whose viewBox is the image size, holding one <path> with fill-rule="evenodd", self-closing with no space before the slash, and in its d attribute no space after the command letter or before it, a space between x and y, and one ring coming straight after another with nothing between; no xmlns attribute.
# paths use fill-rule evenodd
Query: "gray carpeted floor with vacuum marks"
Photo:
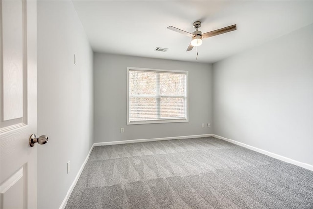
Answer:
<svg viewBox="0 0 313 209"><path fill-rule="evenodd" d="M313 172L213 137L100 146L66 208L313 209Z"/></svg>

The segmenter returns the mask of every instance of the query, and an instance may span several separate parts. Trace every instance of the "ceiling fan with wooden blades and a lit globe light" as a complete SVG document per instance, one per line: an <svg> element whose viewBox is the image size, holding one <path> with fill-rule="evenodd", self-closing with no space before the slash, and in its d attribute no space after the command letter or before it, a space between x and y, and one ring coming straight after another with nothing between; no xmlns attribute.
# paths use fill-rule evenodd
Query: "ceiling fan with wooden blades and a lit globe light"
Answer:
<svg viewBox="0 0 313 209"><path fill-rule="evenodd" d="M216 36L216 35L220 35L220 34L227 33L227 32L230 32L230 31L237 29L236 24L234 24L234 25L231 25L228 27L223 27L221 29L213 30L211 32L207 32L207 33L202 34L202 32L200 30L198 30L198 28L201 27L200 21L196 21L196 22L192 23L192 25L193 25L193 28L196 28L196 31L194 31L192 33L188 33L184 30L180 30L180 29L173 27L173 26L167 27L167 29L170 29L170 30L173 30L175 32L179 32L181 34L184 34L184 35L191 37L191 43L189 44L187 51L192 50L194 46L200 46L202 44L202 39L209 38L209 37Z"/></svg>

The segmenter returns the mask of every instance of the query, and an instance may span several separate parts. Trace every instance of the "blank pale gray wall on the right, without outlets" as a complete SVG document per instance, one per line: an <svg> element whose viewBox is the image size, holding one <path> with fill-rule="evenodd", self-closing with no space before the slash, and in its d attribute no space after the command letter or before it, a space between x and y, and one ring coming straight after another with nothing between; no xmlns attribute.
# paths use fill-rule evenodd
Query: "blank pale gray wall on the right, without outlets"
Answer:
<svg viewBox="0 0 313 209"><path fill-rule="evenodd" d="M213 65L214 134L312 162L312 25Z"/></svg>

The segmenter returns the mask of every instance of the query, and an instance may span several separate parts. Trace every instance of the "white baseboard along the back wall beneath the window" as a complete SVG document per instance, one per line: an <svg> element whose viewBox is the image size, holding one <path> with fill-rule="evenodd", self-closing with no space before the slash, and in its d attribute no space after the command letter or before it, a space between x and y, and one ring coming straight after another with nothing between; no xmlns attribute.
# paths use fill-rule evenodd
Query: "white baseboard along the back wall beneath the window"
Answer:
<svg viewBox="0 0 313 209"><path fill-rule="evenodd" d="M110 142L100 142L94 143L94 146L107 146L115 144L129 144L129 143L140 143L147 141L164 141L164 140L173 140L173 139L189 139L189 138L200 138L200 137L212 137L212 134L200 134L200 135L189 135L189 136L180 136L180 137L164 137L164 138L153 138L153 139L134 139L134 140L125 140L125 141L110 141Z"/></svg>

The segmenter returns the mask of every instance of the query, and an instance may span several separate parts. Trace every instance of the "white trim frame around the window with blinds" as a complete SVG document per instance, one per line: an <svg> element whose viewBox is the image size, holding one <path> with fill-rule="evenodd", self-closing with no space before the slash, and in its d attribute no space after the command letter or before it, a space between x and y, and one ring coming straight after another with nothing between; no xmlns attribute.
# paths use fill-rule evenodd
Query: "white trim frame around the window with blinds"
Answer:
<svg viewBox="0 0 313 209"><path fill-rule="evenodd" d="M147 120L147 121L129 121L129 71L130 70L142 70L142 71L155 71L155 72L176 72L186 74L186 119L165 119L165 120ZM127 125L136 125L136 124L154 124L154 123L181 123L189 122L189 86L188 86L188 71L183 70L164 70L164 69L151 69L151 68L137 68L137 67L126 67L126 114L127 114Z"/></svg>

